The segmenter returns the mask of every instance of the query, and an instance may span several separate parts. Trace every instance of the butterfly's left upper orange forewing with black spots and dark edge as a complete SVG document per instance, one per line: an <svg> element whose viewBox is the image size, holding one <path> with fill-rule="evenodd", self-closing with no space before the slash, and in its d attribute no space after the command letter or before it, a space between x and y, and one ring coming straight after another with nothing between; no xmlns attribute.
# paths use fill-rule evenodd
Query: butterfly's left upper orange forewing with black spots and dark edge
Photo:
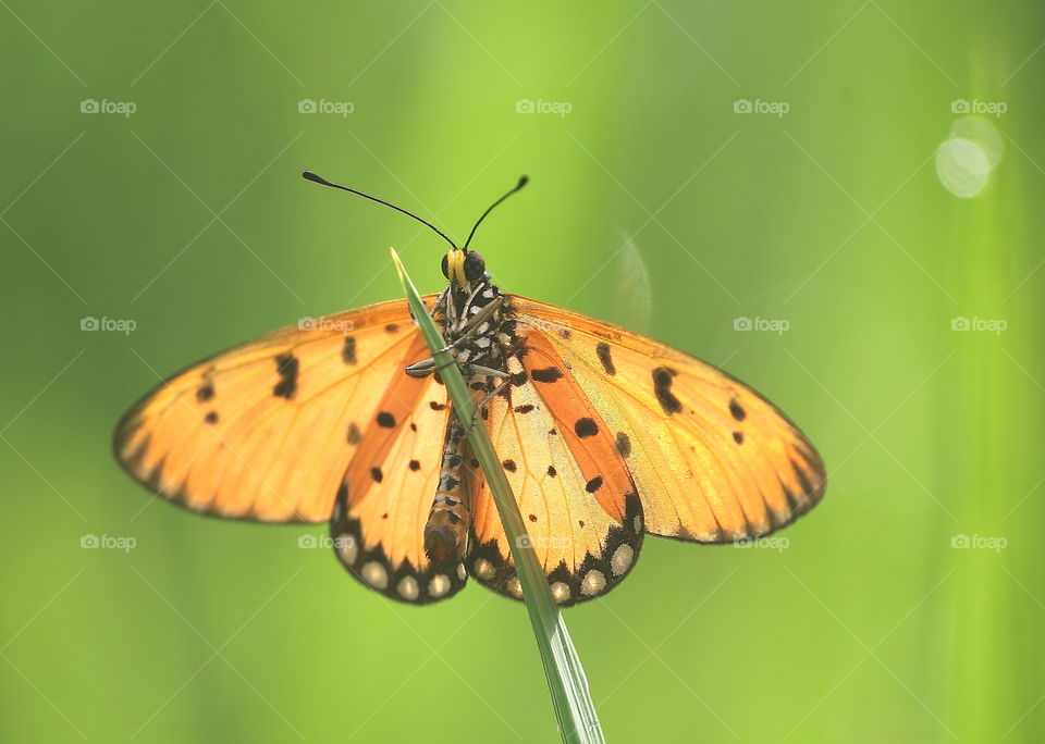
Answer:
<svg viewBox="0 0 1045 744"><path fill-rule="evenodd" d="M425 300L430 307L434 296ZM403 300L275 331L153 389L120 422L116 459L153 493L194 511L322 522L354 458L373 456L379 434L401 431L388 425L392 411L382 406L394 405L402 423L404 411L421 405L426 381L403 368L427 356ZM398 400L389 399L391 389ZM441 435L426 433L437 443L437 470ZM349 478L361 474L353 468Z"/></svg>

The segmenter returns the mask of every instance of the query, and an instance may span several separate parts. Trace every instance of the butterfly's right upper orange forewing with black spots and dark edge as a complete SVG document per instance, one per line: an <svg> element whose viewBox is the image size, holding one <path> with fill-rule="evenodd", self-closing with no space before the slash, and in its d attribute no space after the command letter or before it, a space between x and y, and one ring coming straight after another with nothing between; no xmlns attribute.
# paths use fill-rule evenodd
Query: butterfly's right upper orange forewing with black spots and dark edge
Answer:
<svg viewBox="0 0 1045 744"><path fill-rule="evenodd" d="M622 327L522 297L509 301L527 345L540 339L554 350L579 386L568 395L590 401L600 431L604 424L613 437L648 532L708 543L761 536L823 496L820 455L750 387Z"/></svg>

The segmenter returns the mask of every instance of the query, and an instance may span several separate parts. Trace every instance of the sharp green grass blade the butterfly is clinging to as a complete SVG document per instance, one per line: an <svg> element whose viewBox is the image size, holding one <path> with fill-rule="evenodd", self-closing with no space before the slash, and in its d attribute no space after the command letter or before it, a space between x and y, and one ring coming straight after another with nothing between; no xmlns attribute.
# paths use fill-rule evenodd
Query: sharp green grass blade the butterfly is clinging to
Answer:
<svg viewBox="0 0 1045 744"><path fill-rule="evenodd" d="M435 364L441 370L441 379L446 385L446 392L450 394L457 416L462 421L472 421L476 406L465 379L450 354L439 352L445 346L443 335L428 314L428 308L421 301L417 287L407 275L395 249L391 248L390 251L414 319L432 351ZM497 512L501 514L501 522L515 559L519 582L522 584L522 599L530 616L530 623L533 625L533 634L537 636L537 646L541 653L541 662L544 666L544 675L548 679L549 693L563 741L582 744L604 742L595 707L588 694L588 679L580 657L574 648L558 606L552 598L544 571L537 561L537 555L526 532L526 524L522 522L522 514L519 513L518 504L512 493L512 486L508 484L485 427L472 426L468 441L490 484L490 491L497 505Z"/></svg>

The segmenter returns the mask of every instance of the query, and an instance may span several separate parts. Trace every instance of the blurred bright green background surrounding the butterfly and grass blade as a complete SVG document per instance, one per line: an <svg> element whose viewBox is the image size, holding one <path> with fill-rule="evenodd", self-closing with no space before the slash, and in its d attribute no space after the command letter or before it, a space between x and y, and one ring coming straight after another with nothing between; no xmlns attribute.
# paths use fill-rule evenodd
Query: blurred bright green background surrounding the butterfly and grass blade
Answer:
<svg viewBox="0 0 1045 744"><path fill-rule="evenodd" d="M323 526L113 462L157 374L399 296L388 246L441 287L435 236L303 168L458 238L529 174L475 244L505 290L824 455L786 544L651 538L568 612L611 741L1045 736L1040 4L0 5L0 739L555 741L520 605L393 604Z"/></svg>

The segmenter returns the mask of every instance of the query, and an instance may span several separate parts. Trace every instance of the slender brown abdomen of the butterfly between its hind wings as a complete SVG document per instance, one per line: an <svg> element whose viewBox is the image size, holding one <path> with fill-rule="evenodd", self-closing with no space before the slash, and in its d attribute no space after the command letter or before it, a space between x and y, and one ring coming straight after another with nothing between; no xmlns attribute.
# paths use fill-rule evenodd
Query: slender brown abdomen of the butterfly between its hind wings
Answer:
<svg viewBox="0 0 1045 744"><path fill-rule="evenodd" d="M443 443L435 501L425 524L425 553L437 566L457 563L465 556L471 524L468 480L464 476L465 432L457 414L451 412Z"/></svg>

